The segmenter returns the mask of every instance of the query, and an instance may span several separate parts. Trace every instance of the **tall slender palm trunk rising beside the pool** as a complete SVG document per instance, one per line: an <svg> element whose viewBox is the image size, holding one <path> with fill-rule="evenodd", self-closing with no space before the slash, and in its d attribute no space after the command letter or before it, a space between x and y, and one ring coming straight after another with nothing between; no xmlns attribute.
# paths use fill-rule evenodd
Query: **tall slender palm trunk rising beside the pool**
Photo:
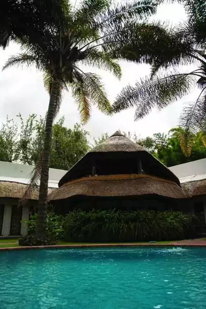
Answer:
<svg viewBox="0 0 206 309"><path fill-rule="evenodd" d="M50 93L50 103L45 124L44 148L41 162L42 165L41 180L39 187L38 217L36 224L36 238L46 236L47 194L48 194L51 145L52 145L52 124L55 116L56 97L57 93L59 93L58 88L59 88L58 82L54 81Z"/></svg>

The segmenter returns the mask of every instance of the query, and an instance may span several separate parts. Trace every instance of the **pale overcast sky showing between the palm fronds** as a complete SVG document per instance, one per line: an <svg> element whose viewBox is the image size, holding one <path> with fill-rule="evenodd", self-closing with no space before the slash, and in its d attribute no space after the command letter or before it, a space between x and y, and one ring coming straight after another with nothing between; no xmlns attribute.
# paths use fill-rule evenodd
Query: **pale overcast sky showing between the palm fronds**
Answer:
<svg viewBox="0 0 206 309"><path fill-rule="evenodd" d="M175 25L183 22L186 15L180 4L164 4L158 8L155 19L168 21ZM6 59L19 52L18 46L11 44L5 51L0 50L0 67ZM128 85L132 85L140 77L148 75L150 66L141 64L121 63L123 77L117 80L110 73L92 68L93 72L100 73L105 83L105 88L111 102L117 93ZM89 71L89 69L87 69ZM194 90L190 95L180 101L173 103L163 111L156 111L148 115L145 119L134 122L134 110L129 109L108 117L99 112L95 107L92 110L91 120L85 125L91 138L98 137L104 132L112 134L117 129L122 131L136 132L139 137L153 135L156 132L168 132L168 130L178 124L183 102L188 102L197 97ZM20 112L26 119L29 114L35 113L44 116L49 104L49 95L43 87L42 74L34 68L10 68L0 72L0 123L5 122L6 116L14 118ZM62 101L60 113L57 120L65 116L65 125L73 127L80 122L77 105L70 93L65 93Z"/></svg>

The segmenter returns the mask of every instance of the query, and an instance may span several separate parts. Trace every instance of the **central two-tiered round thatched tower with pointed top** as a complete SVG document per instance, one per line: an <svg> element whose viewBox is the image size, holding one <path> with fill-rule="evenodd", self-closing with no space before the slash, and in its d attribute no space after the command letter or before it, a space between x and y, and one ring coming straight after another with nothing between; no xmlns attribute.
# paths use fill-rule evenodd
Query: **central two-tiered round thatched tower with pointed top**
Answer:
<svg viewBox="0 0 206 309"><path fill-rule="evenodd" d="M84 155L49 195L56 212L70 209L167 209L185 195L179 179L119 131Z"/></svg>

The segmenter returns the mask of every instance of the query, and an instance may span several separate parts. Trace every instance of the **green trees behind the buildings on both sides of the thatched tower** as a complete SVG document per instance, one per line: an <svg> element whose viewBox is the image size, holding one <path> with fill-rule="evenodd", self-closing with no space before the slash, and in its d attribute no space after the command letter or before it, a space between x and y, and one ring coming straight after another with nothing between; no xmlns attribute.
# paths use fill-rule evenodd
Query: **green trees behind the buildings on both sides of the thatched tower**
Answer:
<svg viewBox="0 0 206 309"><path fill-rule="evenodd" d="M21 124L7 118L0 127L0 161L19 162L35 165L42 149L45 120L29 115L26 121L18 115ZM135 133L124 132L133 142L145 147L151 154L166 166L174 166L206 158L206 143L201 131L190 138L190 153L183 154L180 127L171 129L167 134L154 133L153 136L139 138ZM73 129L64 125L64 117L53 125L52 152L50 167L70 169L91 147L97 146L109 138L103 133L90 143L89 133L80 124ZM93 144L93 145L92 145Z"/></svg>

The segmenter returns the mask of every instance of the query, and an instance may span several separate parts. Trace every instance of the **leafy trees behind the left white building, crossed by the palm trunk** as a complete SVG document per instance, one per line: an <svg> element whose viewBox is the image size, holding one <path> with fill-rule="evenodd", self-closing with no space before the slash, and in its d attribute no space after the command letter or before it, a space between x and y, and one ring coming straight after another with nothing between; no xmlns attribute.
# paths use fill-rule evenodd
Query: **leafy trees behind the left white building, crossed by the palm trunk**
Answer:
<svg viewBox="0 0 206 309"><path fill-rule="evenodd" d="M0 160L36 165L43 148L45 119L29 115L26 121L19 114L19 126L14 120L0 128ZM89 149L88 132L81 124L73 129L64 126L64 117L53 124L50 167L70 169Z"/></svg>

